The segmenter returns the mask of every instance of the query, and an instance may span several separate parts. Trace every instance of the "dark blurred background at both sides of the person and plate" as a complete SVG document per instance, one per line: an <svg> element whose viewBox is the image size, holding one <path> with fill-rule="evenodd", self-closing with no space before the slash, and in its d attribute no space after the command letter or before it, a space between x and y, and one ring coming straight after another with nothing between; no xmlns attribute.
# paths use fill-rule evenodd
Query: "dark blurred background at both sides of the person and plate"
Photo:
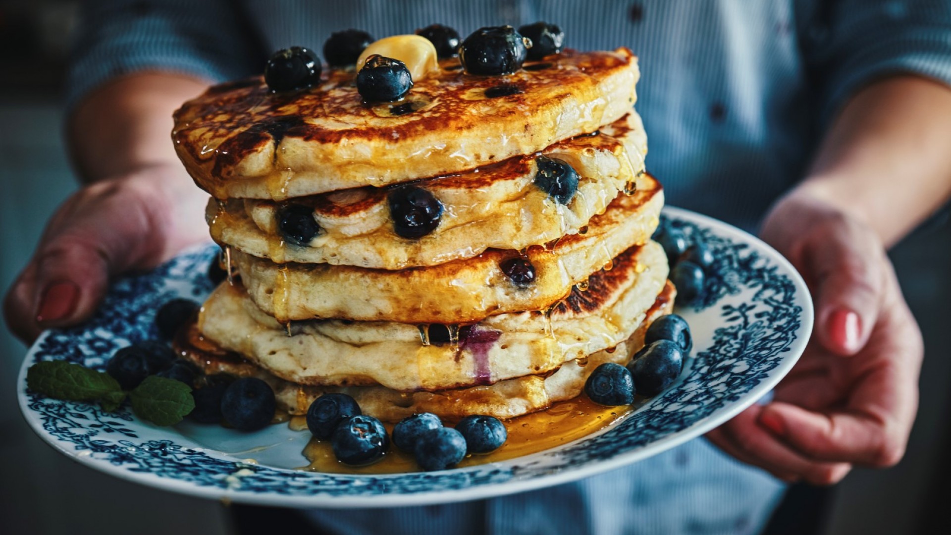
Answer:
<svg viewBox="0 0 951 535"><path fill-rule="evenodd" d="M0 289L76 188L63 143L62 93L78 2L0 0ZM857 469L827 493L825 534L935 533L951 525L951 222L947 210L891 251L925 340L921 408L899 466ZM102 535L229 532L225 505L119 481L54 452L20 415L26 347L0 327L0 531ZM804 504L801 506L816 506Z"/></svg>

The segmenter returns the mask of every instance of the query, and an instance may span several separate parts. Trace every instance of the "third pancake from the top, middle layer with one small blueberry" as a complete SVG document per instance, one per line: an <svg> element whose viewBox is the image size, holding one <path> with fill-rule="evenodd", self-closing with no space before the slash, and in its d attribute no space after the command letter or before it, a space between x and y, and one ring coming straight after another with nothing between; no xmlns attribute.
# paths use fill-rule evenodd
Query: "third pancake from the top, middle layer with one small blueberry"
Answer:
<svg viewBox="0 0 951 535"><path fill-rule="evenodd" d="M281 323L314 318L471 323L551 306L615 256L647 242L663 204L659 187L640 189L620 195L594 216L585 234L521 252L488 249L474 258L426 268L274 264L238 251L231 257L251 299ZM515 284L505 274L502 267L516 258L532 264L534 281Z"/></svg>

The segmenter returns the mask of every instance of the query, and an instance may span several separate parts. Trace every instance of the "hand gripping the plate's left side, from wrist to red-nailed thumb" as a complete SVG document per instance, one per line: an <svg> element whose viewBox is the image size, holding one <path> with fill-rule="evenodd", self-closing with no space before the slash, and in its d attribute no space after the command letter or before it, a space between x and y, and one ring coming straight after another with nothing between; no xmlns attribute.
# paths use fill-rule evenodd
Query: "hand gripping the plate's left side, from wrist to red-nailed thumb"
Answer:
<svg viewBox="0 0 951 535"><path fill-rule="evenodd" d="M137 168L80 189L49 220L7 293L10 330L31 342L44 328L86 320L110 277L154 268L207 240L206 202L177 163Z"/></svg>

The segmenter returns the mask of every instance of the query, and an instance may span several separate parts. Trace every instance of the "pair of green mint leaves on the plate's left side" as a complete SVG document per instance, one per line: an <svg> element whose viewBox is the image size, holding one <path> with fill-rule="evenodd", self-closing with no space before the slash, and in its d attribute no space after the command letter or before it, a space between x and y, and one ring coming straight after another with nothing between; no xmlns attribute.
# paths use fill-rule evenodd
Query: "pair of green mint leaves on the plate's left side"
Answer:
<svg viewBox="0 0 951 535"><path fill-rule="evenodd" d="M27 386L49 398L67 401L98 401L113 412L126 401L126 391L107 373L66 361L43 361L27 370ZM132 410L157 426L173 426L195 408L191 388L174 379L146 377L127 393Z"/></svg>

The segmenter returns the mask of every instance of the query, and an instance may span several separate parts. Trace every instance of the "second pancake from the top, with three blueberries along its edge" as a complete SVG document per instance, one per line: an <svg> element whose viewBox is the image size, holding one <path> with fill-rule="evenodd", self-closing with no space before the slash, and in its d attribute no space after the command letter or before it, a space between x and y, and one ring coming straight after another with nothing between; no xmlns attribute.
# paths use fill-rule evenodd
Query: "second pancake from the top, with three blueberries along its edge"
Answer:
<svg viewBox="0 0 951 535"><path fill-rule="evenodd" d="M287 203L314 212L320 233L307 246L284 243L278 214L285 204L212 200L207 219L219 243L275 262L382 269L434 266L473 257L486 248L527 248L578 232L622 189L658 188L656 181L638 177L646 150L643 126L632 111L599 134L545 149L543 153L568 162L580 176L568 205L534 185L536 154L417 181L414 186L431 192L444 207L438 227L417 239L395 232L387 202L390 188L347 189Z"/></svg>

